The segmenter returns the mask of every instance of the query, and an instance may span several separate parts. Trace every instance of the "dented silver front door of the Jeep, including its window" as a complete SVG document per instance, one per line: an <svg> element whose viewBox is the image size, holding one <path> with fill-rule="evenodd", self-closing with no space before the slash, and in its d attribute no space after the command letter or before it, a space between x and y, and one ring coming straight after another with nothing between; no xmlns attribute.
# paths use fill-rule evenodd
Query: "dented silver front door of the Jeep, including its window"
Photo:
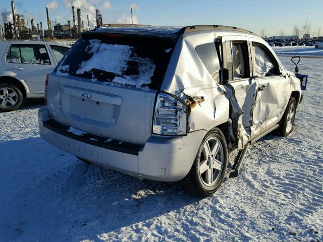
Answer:
<svg viewBox="0 0 323 242"><path fill-rule="evenodd" d="M250 45L252 76L258 86L252 120L254 137L279 122L288 101L288 77L282 75L281 67L269 48L256 39Z"/></svg>

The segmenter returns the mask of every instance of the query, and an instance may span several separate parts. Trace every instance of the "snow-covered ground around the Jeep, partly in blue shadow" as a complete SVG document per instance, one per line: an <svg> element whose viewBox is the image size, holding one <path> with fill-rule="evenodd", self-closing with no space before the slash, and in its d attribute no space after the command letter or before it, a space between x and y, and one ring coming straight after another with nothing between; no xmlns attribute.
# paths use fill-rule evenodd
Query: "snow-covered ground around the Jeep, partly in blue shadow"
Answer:
<svg viewBox="0 0 323 242"><path fill-rule="evenodd" d="M303 58L300 70L310 79L292 134L252 145L241 174L206 199L47 144L42 100L0 113L0 240L322 241L323 58Z"/></svg>

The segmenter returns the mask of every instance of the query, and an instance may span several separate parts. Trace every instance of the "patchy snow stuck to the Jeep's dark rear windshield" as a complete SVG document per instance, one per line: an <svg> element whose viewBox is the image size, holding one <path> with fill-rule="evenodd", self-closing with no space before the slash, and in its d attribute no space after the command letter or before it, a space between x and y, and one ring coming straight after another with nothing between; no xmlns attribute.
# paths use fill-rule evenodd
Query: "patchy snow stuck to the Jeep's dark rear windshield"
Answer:
<svg viewBox="0 0 323 242"><path fill-rule="evenodd" d="M150 78L155 70L155 65L151 59L141 58L133 54L132 47L129 45L106 44L97 39L89 40L89 42L90 45L85 50L93 55L87 61L81 63L76 74L98 69L118 75L112 80L117 84L142 87L144 84L151 83ZM138 64L138 75L123 75L128 62Z"/></svg>

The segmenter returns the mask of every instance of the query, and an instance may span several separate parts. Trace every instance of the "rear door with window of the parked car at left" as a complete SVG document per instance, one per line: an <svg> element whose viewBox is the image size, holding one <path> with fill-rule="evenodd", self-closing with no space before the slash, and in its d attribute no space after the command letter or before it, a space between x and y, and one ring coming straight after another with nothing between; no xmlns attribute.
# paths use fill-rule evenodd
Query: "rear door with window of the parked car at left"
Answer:
<svg viewBox="0 0 323 242"><path fill-rule="evenodd" d="M35 94L44 93L46 74L55 68L44 44L12 44L3 63Z"/></svg>

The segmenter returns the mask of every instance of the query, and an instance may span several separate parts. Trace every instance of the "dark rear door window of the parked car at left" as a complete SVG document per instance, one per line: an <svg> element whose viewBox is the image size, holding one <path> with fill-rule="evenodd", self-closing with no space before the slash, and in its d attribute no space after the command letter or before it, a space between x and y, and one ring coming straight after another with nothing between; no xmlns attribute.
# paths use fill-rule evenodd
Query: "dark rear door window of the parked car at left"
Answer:
<svg viewBox="0 0 323 242"><path fill-rule="evenodd" d="M49 65L49 56L45 45L13 44L7 55L10 63Z"/></svg>

